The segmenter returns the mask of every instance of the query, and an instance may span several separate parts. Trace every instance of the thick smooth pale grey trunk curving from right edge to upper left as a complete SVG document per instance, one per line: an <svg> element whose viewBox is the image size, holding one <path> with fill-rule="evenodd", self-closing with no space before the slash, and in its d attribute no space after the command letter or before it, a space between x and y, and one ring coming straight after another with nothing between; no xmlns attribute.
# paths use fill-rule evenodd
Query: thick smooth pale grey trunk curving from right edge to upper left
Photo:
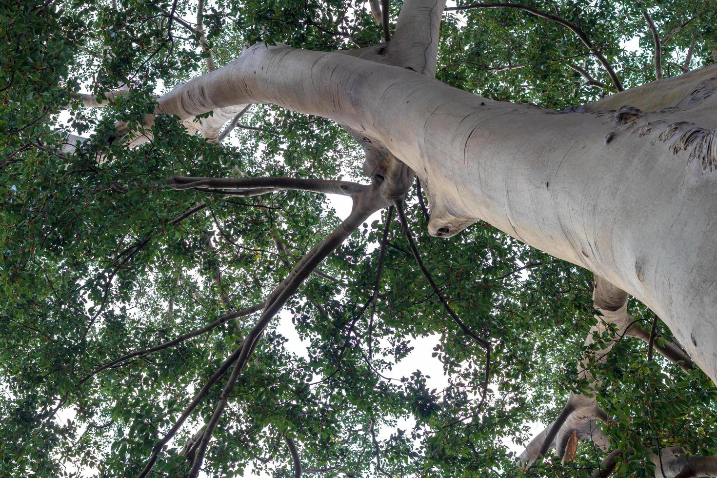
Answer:
<svg viewBox="0 0 717 478"><path fill-rule="evenodd" d="M347 125L422 178L432 234L483 219L596 272L660 315L714 380L717 112L714 81L690 75L689 98L675 102L688 109L556 114L405 68L261 44L159 104L191 118L271 102Z"/></svg>

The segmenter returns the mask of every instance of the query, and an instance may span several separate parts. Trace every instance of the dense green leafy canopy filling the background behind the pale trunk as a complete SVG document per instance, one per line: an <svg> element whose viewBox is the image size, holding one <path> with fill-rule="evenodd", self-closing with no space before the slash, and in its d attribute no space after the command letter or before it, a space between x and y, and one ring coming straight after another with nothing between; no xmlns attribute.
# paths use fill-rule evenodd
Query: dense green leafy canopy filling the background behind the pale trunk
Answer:
<svg viewBox="0 0 717 478"><path fill-rule="evenodd" d="M163 114L136 148L118 130L247 44L385 42L402 4L378 6L384 26L363 1L198 3L0 5L2 476L136 477L151 457L153 473L186 476L223 401L207 476L296 476L299 460L327 477L588 477L604 458L591 441L569 464L528 471L508 444L528 444L527 424L551 423L590 386L581 360L607 342L592 374L622 452L615 476L655 476L650 453L672 446L717 455L717 389L704 373L608 332L584 345L598 322L592 273L485 223L429 236L419 183L404 208L359 220L288 298L307 355L287 348L275 318L235 383L211 381L342 218L326 194L279 180L258 195L191 178L366 183L364 151L336 123L274 105L237 115L223 141ZM442 16L436 78L494 100L561 110L717 56L709 0L460 6ZM640 302L628 311L656 330L656 347L673 340ZM420 370L390 373L427 336L437 346L421 353L443 364L443 390Z"/></svg>

